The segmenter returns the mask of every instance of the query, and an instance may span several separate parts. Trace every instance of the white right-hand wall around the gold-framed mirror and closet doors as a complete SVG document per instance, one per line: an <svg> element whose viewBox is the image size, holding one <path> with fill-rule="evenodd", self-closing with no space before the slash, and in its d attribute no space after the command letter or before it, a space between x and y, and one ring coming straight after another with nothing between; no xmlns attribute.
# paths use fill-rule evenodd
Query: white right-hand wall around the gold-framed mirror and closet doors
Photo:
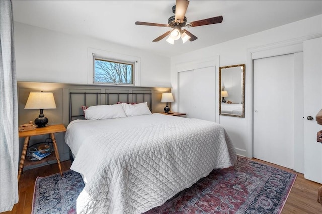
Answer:
<svg viewBox="0 0 322 214"><path fill-rule="evenodd" d="M284 26L255 33L245 37L230 40L218 45L213 45L197 51L189 52L183 55L171 58L171 84L172 92L178 97L178 71L177 65L191 61L203 62L203 59L219 56L220 66L229 66L237 64L246 64L245 81L245 118L236 118L228 116L219 116L219 122L228 131L236 151L240 155L252 156L252 65L250 59L250 50L261 49L265 46L284 44L289 41L300 40L307 36L322 36L322 15L300 20ZM199 39L202 39L200 37ZM217 78L218 79L218 78ZM218 86L218 82L216 82ZM207 101L209 97L204 97ZM205 103L206 104L206 103ZM172 103L173 111L176 111L178 105ZM218 108L218 106L216 106ZM188 112L187 112L188 113Z"/></svg>

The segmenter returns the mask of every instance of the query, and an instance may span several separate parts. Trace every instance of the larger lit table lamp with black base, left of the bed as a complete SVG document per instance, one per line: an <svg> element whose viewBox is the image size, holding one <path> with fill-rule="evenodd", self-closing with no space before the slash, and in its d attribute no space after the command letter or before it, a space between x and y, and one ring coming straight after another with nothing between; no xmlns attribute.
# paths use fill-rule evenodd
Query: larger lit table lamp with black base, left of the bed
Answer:
<svg viewBox="0 0 322 214"><path fill-rule="evenodd" d="M39 109L40 114L35 119L37 128L46 127L48 118L44 115L44 109L55 109L56 103L52 92L30 92L25 109Z"/></svg>

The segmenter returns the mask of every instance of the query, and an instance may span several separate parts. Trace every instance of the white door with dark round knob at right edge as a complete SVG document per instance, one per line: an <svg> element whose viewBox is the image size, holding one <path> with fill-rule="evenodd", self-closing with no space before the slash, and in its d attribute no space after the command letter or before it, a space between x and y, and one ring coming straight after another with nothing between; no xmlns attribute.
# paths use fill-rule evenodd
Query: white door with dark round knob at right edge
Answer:
<svg viewBox="0 0 322 214"><path fill-rule="evenodd" d="M321 50L322 38L304 41L304 177L318 183L322 183L322 143L316 142L316 133L322 125L315 116L322 109Z"/></svg>

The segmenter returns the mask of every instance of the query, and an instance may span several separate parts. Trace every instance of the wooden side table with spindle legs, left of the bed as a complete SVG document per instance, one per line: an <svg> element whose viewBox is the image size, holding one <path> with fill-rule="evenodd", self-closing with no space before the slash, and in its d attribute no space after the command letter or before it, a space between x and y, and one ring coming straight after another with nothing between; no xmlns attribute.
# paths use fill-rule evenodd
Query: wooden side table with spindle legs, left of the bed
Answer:
<svg viewBox="0 0 322 214"><path fill-rule="evenodd" d="M35 165L35 164L43 163L43 162L48 161L48 160L56 159L57 163L58 163L60 175L63 176L62 171L61 171L60 158L59 158L56 138L55 138L54 134L59 133L59 132L65 132L65 131L66 131L65 126L63 124L59 124L59 125L46 126L44 128L36 128L36 129L30 130L30 131L19 132L19 137L24 137L25 141L24 141L24 147L22 149L21 158L20 158L20 164L19 164L19 168L18 168L18 181L19 181L20 175L22 174L22 171L24 169L25 159L26 159L26 154L27 154L27 149L28 149L30 137L37 136L37 135L44 135L44 134L50 134L50 138L52 140L52 144L53 144L54 150L55 150L55 157L53 156L53 154L51 154L48 157L46 157L46 158L44 158L42 160L39 160L39 161L28 161L27 160L26 165Z"/></svg>

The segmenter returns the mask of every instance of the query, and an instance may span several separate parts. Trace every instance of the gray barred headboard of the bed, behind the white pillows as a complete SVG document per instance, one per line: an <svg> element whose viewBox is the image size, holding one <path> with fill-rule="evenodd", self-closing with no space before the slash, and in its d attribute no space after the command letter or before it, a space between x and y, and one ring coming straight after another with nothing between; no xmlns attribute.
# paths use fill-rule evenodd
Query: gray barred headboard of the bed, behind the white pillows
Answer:
<svg viewBox="0 0 322 214"><path fill-rule="evenodd" d="M81 106L111 105L118 102L147 102L152 111L152 93L69 92L69 122L83 118Z"/></svg>

